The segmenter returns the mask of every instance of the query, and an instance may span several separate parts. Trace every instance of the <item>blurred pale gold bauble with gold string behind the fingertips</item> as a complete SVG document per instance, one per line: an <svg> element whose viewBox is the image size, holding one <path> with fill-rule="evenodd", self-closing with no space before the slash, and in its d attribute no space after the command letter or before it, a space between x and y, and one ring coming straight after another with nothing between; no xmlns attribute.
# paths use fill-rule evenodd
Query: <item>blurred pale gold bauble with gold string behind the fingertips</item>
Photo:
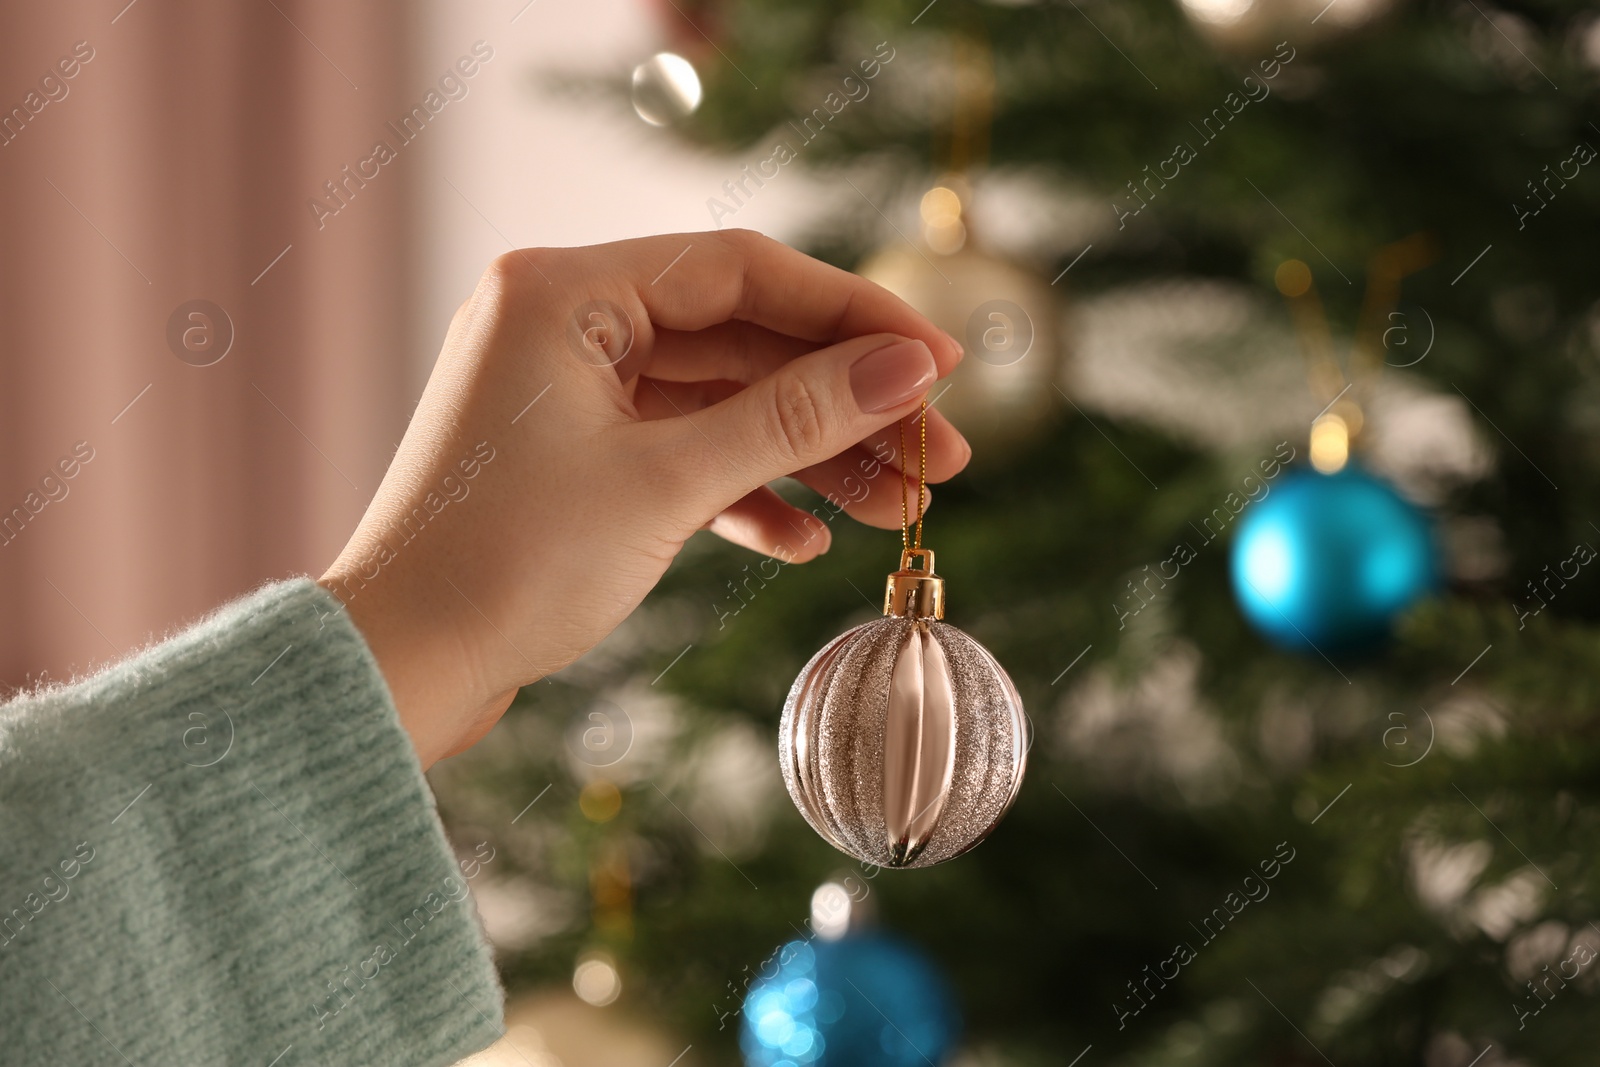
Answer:
<svg viewBox="0 0 1600 1067"><path fill-rule="evenodd" d="M994 98L987 46L955 40L954 82L952 173L922 197L920 240L885 246L856 274L966 347L966 358L938 395L939 411L973 442L974 456L995 461L1037 437L1061 410L1061 310L1043 280L982 251L973 234L971 187L963 173L987 154Z"/></svg>

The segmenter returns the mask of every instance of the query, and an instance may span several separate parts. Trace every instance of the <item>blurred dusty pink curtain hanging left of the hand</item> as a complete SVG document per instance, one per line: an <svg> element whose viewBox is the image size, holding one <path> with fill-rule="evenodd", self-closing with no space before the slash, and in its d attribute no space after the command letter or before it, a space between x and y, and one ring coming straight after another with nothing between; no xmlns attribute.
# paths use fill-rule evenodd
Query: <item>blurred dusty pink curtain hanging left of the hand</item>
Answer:
<svg viewBox="0 0 1600 1067"><path fill-rule="evenodd" d="M405 110L405 5L125 3L0 16L0 694L320 573L418 387L406 160L309 208Z"/></svg>

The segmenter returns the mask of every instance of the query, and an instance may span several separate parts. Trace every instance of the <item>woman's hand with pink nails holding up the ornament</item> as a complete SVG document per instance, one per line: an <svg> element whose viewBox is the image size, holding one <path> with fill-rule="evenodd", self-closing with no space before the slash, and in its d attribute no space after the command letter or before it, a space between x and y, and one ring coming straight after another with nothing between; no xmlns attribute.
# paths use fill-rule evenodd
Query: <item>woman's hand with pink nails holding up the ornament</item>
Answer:
<svg viewBox="0 0 1600 1067"><path fill-rule="evenodd" d="M826 523L768 482L899 525L896 422L915 440L960 355L888 291L752 232L509 253L322 584L430 766L610 633L696 530L826 552ZM926 429L939 482L971 450L933 411Z"/></svg>

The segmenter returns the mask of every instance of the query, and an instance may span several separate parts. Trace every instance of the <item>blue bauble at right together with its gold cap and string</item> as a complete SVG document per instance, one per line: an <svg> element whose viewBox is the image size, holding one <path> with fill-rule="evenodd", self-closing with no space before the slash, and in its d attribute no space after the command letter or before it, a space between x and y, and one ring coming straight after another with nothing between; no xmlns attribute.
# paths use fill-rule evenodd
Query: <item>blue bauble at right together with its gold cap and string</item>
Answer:
<svg viewBox="0 0 1600 1067"><path fill-rule="evenodd" d="M1350 462L1365 426L1355 397L1371 390L1381 366L1373 334L1398 296L1400 278L1430 259L1432 246L1421 238L1373 258L1349 381L1333 355L1310 269L1298 259L1278 267L1277 285L1290 298L1312 384L1331 395L1310 429L1314 470L1290 474L1253 504L1232 549L1235 600L1250 624L1282 648L1323 656L1371 651L1438 585L1429 517Z"/></svg>

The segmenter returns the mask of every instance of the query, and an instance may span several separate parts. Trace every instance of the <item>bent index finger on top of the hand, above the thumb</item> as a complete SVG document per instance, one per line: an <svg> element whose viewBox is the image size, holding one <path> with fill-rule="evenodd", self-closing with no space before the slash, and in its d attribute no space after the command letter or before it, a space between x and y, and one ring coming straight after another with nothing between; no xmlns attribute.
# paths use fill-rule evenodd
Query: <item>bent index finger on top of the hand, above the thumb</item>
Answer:
<svg viewBox="0 0 1600 1067"><path fill-rule="evenodd" d="M926 344L941 376L962 357L954 338L883 286L754 230L666 234L608 251L605 262L669 330L742 320L819 346L894 333Z"/></svg>

